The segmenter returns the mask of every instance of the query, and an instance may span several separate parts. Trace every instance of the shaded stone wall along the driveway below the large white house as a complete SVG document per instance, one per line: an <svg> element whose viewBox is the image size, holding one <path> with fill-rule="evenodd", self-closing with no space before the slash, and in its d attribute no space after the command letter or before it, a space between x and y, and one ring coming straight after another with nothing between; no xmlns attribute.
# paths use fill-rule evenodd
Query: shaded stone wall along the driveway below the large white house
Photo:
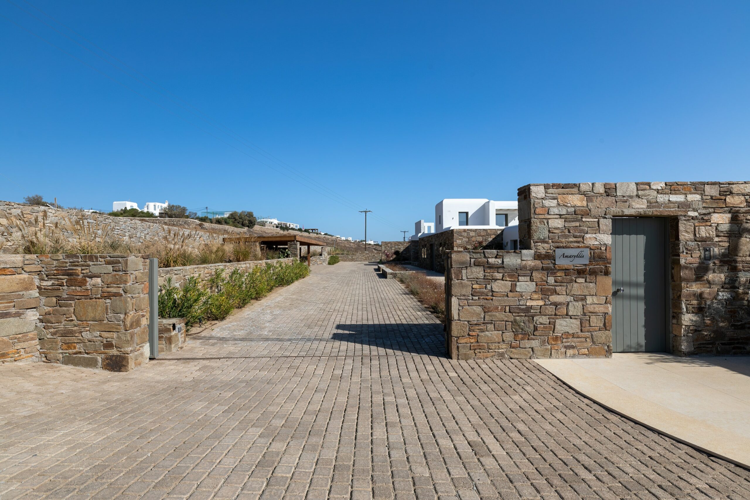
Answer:
<svg viewBox="0 0 750 500"><path fill-rule="evenodd" d="M420 268L443 273L445 252L452 250L501 250L502 229L449 229L419 238L416 262ZM433 256L434 252L434 256Z"/></svg>

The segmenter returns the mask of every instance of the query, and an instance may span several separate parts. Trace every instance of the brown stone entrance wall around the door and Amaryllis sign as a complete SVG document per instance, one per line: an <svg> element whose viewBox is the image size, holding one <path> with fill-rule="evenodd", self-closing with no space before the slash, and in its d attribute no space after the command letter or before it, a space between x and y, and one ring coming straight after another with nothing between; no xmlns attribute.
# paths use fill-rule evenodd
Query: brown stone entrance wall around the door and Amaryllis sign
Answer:
<svg viewBox="0 0 750 500"><path fill-rule="evenodd" d="M454 357L610 355L613 217L669 221L671 352L750 353L750 182L529 184L518 190L518 205L520 244L528 249L519 267L508 266L507 252L446 261ZM557 248L586 248L589 263L555 265ZM506 309L488 310L482 300ZM491 313L517 319L491 315L490 322ZM479 337L484 331L499 331L503 342Z"/></svg>

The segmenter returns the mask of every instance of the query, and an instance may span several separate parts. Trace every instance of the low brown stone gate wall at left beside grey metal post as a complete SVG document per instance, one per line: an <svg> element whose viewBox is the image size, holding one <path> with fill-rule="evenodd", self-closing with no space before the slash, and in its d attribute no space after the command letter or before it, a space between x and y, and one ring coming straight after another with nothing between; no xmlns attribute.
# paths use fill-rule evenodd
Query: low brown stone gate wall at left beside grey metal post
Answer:
<svg viewBox="0 0 750 500"><path fill-rule="evenodd" d="M42 361L110 371L148 361L148 260L121 254L21 255L3 256L1 262L8 267L1 270L0 290L28 295L14 299L16 310L36 308L32 331ZM23 329L28 330L34 313L24 310L28 317L19 318L26 317Z"/></svg>

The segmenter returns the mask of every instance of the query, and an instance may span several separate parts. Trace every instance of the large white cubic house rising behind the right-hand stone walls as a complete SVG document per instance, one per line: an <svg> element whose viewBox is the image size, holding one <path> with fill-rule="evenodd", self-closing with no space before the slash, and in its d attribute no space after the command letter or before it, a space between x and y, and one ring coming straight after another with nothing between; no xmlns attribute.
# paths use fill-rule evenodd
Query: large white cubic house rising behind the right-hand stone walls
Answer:
<svg viewBox="0 0 750 500"><path fill-rule="evenodd" d="M498 229L518 223L518 202L448 198L435 205L435 230Z"/></svg>

